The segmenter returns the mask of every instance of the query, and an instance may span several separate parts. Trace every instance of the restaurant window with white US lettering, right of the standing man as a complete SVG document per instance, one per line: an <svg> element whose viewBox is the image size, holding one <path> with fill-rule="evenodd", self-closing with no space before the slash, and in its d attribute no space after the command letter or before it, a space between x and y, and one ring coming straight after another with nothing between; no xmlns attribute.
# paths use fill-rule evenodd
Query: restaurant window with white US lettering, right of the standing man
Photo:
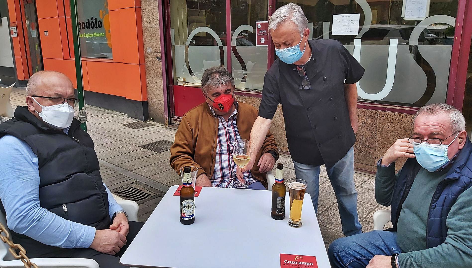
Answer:
<svg viewBox="0 0 472 268"><path fill-rule="evenodd" d="M359 100L411 107L444 103L458 0L404 1L278 0L276 8L299 4L310 38L338 40L353 54L365 68L357 83ZM426 6L411 6L422 2ZM414 8L424 18L408 13ZM335 29L333 35L333 15L341 14L360 14L357 33L337 35Z"/></svg>

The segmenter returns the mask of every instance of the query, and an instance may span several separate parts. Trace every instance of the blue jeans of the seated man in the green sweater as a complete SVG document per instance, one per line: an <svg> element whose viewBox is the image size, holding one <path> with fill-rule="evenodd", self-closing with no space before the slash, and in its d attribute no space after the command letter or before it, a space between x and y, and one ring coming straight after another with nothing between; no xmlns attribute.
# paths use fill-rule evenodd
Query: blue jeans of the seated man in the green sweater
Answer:
<svg viewBox="0 0 472 268"><path fill-rule="evenodd" d="M375 255L402 253L396 244L396 232L372 231L336 239L329 245L333 268L365 268Z"/></svg>

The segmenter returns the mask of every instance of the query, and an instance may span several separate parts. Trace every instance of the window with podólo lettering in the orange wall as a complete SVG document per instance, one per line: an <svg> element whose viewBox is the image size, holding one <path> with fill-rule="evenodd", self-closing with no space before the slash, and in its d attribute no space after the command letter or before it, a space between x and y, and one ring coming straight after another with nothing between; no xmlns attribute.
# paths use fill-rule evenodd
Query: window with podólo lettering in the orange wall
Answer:
<svg viewBox="0 0 472 268"><path fill-rule="evenodd" d="M113 58L108 0L78 0L77 14L82 57Z"/></svg>

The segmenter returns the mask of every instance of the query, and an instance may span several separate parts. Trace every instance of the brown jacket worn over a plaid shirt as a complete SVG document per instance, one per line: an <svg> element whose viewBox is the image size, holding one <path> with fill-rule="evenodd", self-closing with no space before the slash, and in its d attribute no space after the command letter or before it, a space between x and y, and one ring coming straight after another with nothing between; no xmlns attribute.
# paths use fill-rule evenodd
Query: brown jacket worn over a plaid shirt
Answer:
<svg viewBox="0 0 472 268"><path fill-rule="evenodd" d="M256 118L256 108L238 102L236 125L241 138L249 139ZM205 173L211 179L215 169L218 123L218 118L211 113L206 102L184 114L175 136L174 145L170 148L170 165L179 175L180 168L196 166L198 167L197 176ZM257 163L262 154L270 150L278 152L275 138L269 132L251 169L254 179L260 181L266 188L266 173L259 172Z"/></svg>

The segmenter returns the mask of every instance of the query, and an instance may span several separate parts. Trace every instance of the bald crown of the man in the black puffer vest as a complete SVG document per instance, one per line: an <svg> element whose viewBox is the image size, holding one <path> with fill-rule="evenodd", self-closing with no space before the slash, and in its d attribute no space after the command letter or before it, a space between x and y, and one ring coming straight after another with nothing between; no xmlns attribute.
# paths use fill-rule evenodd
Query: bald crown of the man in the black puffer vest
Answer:
<svg viewBox="0 0 472 268"><path fill-rule="evenodd" d="M62 92L51 92L51 91L62 91ZM74 94L74 86L72 81L64 74L56 71L40 71L34 73L26 85L27 96L47 96L53 97L52 93L67 94L70 95L70 91ZM48 95L48 93L50 93ZM44 95L47 94L47 95ZM51 96L50 96L51 95ZM54 96L63 97L63 96Z"/></svg>

